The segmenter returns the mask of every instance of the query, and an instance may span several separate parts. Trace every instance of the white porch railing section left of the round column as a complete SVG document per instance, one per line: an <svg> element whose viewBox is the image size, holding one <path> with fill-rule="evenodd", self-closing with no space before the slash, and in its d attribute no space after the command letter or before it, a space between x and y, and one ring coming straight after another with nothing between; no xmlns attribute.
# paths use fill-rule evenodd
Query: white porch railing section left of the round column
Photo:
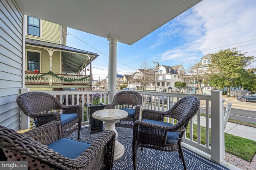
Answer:
<svg viewBox="0 0 256 170"><path fill-rule="evenodd" d="M54 95L63 105L82 105L82 126L89 125L88 109L86 110L86 120L84 119L84 108L87 103L91 103L91 94L100 93L100 102L107 103L108 91L42 91Z"/></svg>

